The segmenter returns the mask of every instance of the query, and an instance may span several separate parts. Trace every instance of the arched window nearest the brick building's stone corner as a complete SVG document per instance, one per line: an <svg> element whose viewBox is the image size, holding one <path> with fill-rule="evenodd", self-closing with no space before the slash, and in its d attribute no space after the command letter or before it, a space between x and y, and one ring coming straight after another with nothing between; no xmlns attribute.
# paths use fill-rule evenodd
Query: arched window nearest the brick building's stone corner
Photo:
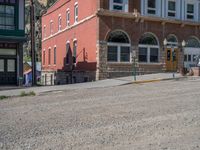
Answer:
<svg viewBox="0 0 200 150"><path fill-rule="evenodd" d="M130 62L130 41L122 31L111 32L108 37L108 56L109 62Z"/></svg>

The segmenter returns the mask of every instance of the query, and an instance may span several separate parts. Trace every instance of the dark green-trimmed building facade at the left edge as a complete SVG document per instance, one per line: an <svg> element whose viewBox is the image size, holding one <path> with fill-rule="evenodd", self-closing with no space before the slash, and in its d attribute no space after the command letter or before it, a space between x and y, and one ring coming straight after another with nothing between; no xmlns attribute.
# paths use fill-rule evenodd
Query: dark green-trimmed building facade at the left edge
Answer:
<svg viewBox="0 0 200 150"><path fill-rule="evenodd" d="M24 0L0 0L0 85L22 85Z"/></svg>

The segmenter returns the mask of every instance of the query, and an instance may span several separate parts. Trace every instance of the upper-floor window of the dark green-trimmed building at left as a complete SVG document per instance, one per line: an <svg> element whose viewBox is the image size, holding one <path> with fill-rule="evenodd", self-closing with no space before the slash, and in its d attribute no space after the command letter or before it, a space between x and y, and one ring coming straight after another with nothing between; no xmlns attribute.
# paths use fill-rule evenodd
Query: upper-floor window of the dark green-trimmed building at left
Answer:
<svg viewBox="0 0 200 150"><path fill-rule="evenodd" d="M0 4L0 29L14 30L15 27L15 6Z"/></svg>

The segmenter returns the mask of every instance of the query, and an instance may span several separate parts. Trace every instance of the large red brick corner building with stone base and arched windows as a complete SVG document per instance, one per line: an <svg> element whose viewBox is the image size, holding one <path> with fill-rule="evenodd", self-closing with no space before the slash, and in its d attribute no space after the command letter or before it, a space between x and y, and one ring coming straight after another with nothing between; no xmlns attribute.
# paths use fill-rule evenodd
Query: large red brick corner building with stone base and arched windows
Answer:
<svg viewBox="0 0 200 150"><path fill-rule="evenodd" d="M58 0L42 17L43 84L131 75L133 57L138 73L188 68L199 22L199 0Z"/></svg>

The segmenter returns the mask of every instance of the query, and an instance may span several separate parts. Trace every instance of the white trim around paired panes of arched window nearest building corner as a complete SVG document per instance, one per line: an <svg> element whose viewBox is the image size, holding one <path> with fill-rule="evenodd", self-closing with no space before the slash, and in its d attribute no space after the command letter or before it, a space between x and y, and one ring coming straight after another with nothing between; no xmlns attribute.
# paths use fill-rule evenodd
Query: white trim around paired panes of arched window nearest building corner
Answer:
<svg viewBox="0 0 200 150"><path fill-rule="evenodd" d="M108 63L132 63L132 51L131 51L131 44L129 43L108 43L107 44L108 46L116 46L117 47L117 61L108 61ZM125 46L125 47L129 47L130 48L130 61L128 62L122 62L121 61L121 48L122 46Z"/></svg>

